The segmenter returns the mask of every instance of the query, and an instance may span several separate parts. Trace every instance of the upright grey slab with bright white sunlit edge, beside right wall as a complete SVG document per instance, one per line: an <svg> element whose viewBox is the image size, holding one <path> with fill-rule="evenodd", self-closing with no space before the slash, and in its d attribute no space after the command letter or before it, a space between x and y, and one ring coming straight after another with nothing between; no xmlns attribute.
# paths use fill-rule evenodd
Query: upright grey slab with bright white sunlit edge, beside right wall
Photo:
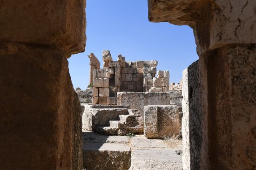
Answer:
<svg viewBox="0 0 256 170"><path fill-rule="evenodd" d="M198 61L182 72L182 164L186 170L208 167L208 151L205 136L207 117L202 111L202 84ZM205 152L205 153L203 153ZM208 169L208 168L207 168Z"/></svg>

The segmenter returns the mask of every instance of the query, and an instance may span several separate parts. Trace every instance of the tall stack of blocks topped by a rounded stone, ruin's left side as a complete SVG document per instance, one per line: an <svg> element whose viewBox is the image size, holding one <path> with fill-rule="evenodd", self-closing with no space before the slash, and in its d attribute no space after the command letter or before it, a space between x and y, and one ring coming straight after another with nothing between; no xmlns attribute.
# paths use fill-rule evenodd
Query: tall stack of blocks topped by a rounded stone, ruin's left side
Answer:
<svg viewBox="0 0 256 170"><path fill-rule="evenodd" d="M114 75L114 67L110 51L103 50L104 68L94 69L93 104L115 105L116 88L110 87L110 79Z"/></svg>

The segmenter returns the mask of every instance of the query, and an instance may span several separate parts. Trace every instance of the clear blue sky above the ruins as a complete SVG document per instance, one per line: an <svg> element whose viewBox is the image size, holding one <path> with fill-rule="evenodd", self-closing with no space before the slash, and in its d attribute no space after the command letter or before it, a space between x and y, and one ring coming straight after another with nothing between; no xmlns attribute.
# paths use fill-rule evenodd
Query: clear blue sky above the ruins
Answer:
<svg viewBox="0 0 256 170"><path fill-rule="evenodd" d="M148 21L147 0L87 0L85 52L72 55L69 71L74 88L86 89L89 55L110 50L114 61L157 60L157 70L169 70L170 82L179 82L182 70L198 59L195 38L189 26Z"/></svg>

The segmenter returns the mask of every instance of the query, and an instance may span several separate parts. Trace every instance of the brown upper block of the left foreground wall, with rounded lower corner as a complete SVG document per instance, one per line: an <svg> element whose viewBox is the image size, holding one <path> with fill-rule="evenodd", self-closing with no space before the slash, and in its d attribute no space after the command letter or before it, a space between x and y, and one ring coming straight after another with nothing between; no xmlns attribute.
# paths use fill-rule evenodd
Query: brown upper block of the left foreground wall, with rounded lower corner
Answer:
<svg viewBox="0 0 256 170"><path fill-rule="evenodd" d="M85 0L1 1L0 42L49 45L66 57L85 48Z"/></svg>

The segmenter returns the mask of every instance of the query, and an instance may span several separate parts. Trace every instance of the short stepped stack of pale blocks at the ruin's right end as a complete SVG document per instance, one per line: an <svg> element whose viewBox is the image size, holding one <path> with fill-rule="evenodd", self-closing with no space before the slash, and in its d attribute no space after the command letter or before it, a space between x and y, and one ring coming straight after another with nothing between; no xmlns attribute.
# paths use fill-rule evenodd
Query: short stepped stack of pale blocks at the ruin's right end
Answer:
<svg viewBox="0 0 256 170"><path fill-rule="evenodd" d="M170 92L169 77L169 71L158 71L157 77L153 78L153 87L149 89L149 92Z"/></svg>

